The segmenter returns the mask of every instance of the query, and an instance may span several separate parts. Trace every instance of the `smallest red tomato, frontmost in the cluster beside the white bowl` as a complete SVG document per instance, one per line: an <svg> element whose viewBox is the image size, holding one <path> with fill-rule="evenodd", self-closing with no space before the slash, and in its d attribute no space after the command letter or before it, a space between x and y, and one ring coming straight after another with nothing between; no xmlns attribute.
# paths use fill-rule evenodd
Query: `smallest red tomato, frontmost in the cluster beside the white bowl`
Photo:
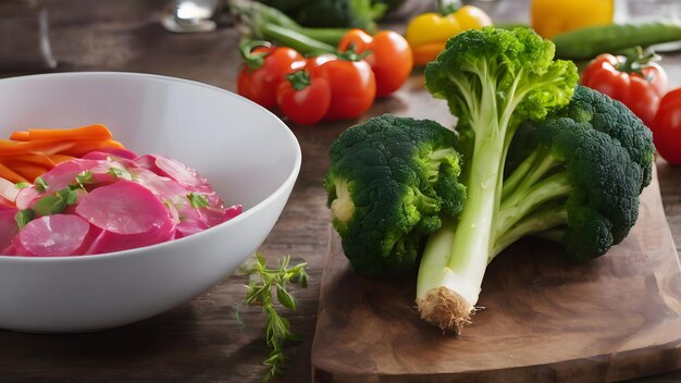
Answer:
<svg viewBox="0 0 681 383"><path fill-rule="evenodd" d="M276 88L276 104L296 124L311 125L320 122L331 104L329 79L315 72L298 71L286 76Z"/></svg>

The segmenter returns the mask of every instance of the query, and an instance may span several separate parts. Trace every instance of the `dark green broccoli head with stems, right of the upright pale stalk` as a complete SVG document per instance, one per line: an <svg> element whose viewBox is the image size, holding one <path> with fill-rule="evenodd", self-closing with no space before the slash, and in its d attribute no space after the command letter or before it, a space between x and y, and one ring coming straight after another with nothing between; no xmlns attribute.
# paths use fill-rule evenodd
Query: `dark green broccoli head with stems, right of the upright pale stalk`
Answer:
<svg viewBox="0 0 681 383"><path fill-rule="evenodd" d="M624 239L653 171L655 148L641 120L578 87L567 108L525 122L508 156L524 160L504 182L493 257L530 234L562 243L575 261Z"/></svg>

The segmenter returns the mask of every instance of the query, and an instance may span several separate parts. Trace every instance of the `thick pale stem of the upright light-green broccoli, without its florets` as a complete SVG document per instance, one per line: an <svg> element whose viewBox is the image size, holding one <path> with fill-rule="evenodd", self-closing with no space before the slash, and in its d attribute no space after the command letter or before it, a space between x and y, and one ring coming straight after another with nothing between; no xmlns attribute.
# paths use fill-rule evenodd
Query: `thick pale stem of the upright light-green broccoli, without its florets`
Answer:
<svg viewBox="0 0 681 383"><path fill-rule="evenodd" d="M519 102L513 98L515 84L506 98L509 101L497 104L495 77L490 73L496 69L491 71L484 61L481 66L475 72L480 76L480 104L470 98L470 90L463 88L470 84L450 78L466 95L465 102L471 111L470 126L475 129L474 160L467 173L468 197L463 211L458 222L443 222L441 230L429 237L417 283L417 302L422 318L449 330L467 323L478 302L495 239L494 212L500 201L507 136L515 133L509 121ZM450 304L436 302L443 299ZM429 312L431 309L437 312Z"/></svg>

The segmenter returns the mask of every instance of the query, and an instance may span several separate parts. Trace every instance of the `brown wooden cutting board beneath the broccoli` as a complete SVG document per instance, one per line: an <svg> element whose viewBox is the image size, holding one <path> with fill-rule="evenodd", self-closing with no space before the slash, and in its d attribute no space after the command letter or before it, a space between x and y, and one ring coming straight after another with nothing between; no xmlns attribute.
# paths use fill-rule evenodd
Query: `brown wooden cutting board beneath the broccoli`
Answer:
<svg viewBox="0 0 681 383"><path fill-rule="evenodd" d="M523 239L488 267L460 336L419 319L416 274L351 271L332 230L312 345L313 382L604 382L681 369L681 271L657 177L630 235L567 261Z"/></svg>

